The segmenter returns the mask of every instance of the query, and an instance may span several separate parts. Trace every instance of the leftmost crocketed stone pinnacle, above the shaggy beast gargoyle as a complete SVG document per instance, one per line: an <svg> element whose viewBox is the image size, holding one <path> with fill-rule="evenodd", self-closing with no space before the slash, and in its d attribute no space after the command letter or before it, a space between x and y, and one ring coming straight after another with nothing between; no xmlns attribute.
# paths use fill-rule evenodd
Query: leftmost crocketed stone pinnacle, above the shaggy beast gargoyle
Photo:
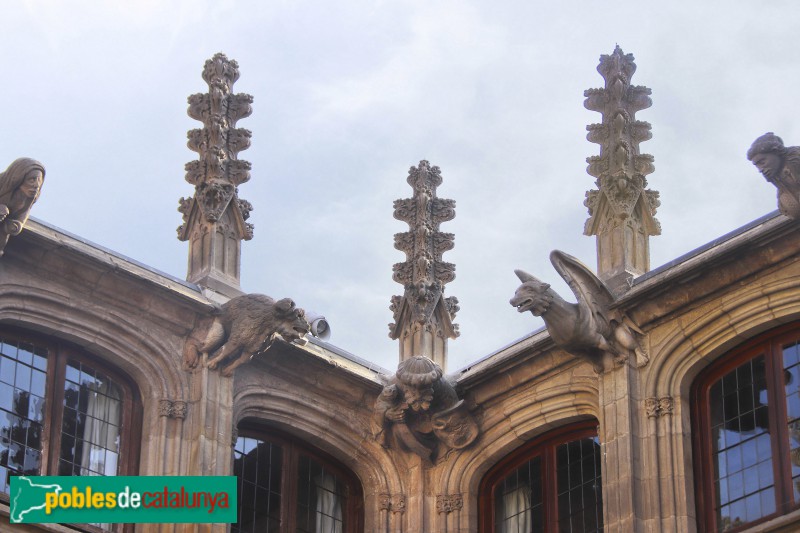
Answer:
<svg viewBox="0 0 800 533"><path fill-rule="evenodd" d="M186 164L186 181L195 193L180 199L178 239L190 243L187 279L233 296L239 289L241 241L253 237L253 225L246 222L253 207L238 197L237 188L250 179L250 163L238 153L250 146L251 133L236 122L252 113L253 97L233 94L239 65L224 54L206 61L203 79L208 93L189 97L187 112L203 128L187 134L187 145L199 158Z"/></svg>

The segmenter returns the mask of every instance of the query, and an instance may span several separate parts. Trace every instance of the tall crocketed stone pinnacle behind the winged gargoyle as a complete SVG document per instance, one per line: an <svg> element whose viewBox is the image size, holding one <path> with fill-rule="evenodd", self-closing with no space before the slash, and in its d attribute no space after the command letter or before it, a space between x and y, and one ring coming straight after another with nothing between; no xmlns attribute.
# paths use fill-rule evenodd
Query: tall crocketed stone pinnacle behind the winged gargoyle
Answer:
<svg viewBox="0 0 800 533"><path fill-rule="evenodd" d="M605 87L584 93L586 109L603 115L601 124L586 127L586 138L600 145L600 155L586 159L597 190L586 192L584 234L597 236L599 277L619 290L650 269L649 237L661 234L655 219L658 192L646 189L653 156L639 152L639 143L652 137L650 124L634 118L653 102L650 89L631 85L636 64L618 45L600 56L597 71Z"/></svg>

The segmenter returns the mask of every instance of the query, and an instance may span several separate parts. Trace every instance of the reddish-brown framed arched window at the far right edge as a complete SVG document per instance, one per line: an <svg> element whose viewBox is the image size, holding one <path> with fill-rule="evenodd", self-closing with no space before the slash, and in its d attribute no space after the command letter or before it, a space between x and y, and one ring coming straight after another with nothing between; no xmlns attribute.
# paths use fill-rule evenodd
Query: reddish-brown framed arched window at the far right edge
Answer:
<svg viewBox="0 0 800 533"><path fill-rule="evenodd" d="M734 349L695 380L701 531L738 531L800 507L799 325Z"/></svg>

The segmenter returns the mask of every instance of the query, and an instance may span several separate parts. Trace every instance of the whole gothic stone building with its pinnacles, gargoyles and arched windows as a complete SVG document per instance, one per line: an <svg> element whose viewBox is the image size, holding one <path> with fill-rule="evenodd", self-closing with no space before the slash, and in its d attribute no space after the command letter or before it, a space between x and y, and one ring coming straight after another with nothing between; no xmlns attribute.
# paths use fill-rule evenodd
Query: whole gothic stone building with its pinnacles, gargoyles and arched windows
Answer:
<svg viewBox="0 0 800 533"><path fill-rule="evenodd" d="M211 342L208 332L233 342L217 309L241 294L239 245L253 230L245 222L251 206L236 196L249 177L249 164L236 157L249 132L233 128L252 98L231 95L235 62L222 55L207 62L209 93L190 97L190 114L204 121L190 132L201 155L187 166L195 196L181 201L190 282L35 219L7 232L0 530L75 531L12 529L6 480L20 472L238 474L240 501L249 502L235 526L117 531L302 530L302 501L305 530L337 533L555 532L570 524L626 533L800 529L800 232L790 218L797 174L793 166L778 172L776 163L786 166L794 152L770 156L777 146L770 137L749 154L778 184L781 213L648 272L658 195L644 188L652 158L638 147L649 125L633 117L650 105L649 90L630 85L633 57L619 48L601 57L598 70L605 87L587 91L586 102L603 115L589 127L601 153L589 159L598 189L587 195L586 233L597 236L599 279L613 293L555 253L562 276L583 278L570 283L580 306L558 302L581 331L562 334L563 316L545 316L549 330L426 390L441 370L419 356L444 366L446 338L457 334L457 302L443 298L454 267L440 261L453 239L438 232L454 204L435 197L440 177L427 162L412 169L414 198L396 205L412 230L396 237L409 260L396 266L405 292L393 299L393 336L408 348L401 368L416 368L407 382L400 368L387 380L389 371L316 339L250 347L258 355L232 375L226 369L250 352L210 368L208 346L224 336ZM217 121L222 111L228 118ZM12 211L21 219L44 172L18 174L4 181L9 190L23 190L26 176L35 182L29 200L6 201L24 208ZM534 304L518 291L512 303L544 314L556 296L532 276L521 278L525 291L544 299ZM292 316L297 327L284 338L307 326ZM439 340L429 335L436 328ZM437 398L442 391L446 402ZM97 414L101 405L116 414ZM104 436L94 435L100 427ZM260 459L261 451L281 459ZM305 485L297 481L303 468L314 472ZM262 469L280 487L248 481ZM280 499L272 498L278 489ZM303 491L315 501L308 494L301 501Z"/></svg>

